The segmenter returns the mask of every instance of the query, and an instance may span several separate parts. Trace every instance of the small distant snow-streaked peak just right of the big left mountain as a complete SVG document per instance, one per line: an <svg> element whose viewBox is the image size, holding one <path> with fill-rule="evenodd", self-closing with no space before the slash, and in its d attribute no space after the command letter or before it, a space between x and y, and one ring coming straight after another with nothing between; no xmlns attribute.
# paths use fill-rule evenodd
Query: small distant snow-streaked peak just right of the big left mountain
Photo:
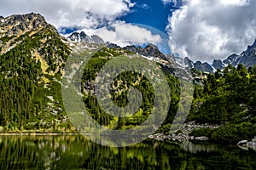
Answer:
<svg viewBox="0 0 256 170"><path fill-rule="evenodd" d="M96 44L103 44L104 41L101 37L98 37L96 35L88 36L85 34L84 31L79 32L73 32L69 37L67 37L67 40L73 41L73 42L87 42L87 43L96 43Z"/></svg>

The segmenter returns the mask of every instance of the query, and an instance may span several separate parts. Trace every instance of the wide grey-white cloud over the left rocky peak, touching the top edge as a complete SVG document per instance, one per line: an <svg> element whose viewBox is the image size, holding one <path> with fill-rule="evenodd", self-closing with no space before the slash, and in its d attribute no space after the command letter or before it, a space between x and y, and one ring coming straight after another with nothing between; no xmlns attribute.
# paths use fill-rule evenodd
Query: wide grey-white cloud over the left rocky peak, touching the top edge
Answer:
<svg viewBox="0 0 256 170"><path fill-rule="evenodd" d="M0 11L10 14L39 13L61 27L98 27L127 14L135 3L130 0L2 0Z"/></svg>

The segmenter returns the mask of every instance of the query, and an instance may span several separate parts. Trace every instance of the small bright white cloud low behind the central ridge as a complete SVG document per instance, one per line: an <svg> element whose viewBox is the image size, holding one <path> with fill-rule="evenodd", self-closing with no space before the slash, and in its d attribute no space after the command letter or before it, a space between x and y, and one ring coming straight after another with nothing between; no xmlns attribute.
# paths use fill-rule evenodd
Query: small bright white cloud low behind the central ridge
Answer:
<svg viewBox="0 0 256 170"><path fill-rule="evenodd" d="M83 29L88 35L98 35L104 42L113 42L123 47L131 42L158 44L161 42L160 35L154 35L151 31L141 26L131 25L125 22L118 22L111 26L111 29L102 27L99 29Z"/></svg>

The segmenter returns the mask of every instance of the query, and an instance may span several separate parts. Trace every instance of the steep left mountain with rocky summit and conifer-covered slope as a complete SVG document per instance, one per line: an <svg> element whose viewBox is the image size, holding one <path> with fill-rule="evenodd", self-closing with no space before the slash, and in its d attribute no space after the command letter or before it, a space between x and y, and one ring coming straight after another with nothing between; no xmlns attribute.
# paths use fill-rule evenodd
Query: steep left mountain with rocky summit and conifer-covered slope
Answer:
<svg viewBox="0 0 256 170"><path fill-rule="evenodd" d="M60 80L70 48L63 37L33 13L2 18L0 30L0 126L67 127Z"/></svg>

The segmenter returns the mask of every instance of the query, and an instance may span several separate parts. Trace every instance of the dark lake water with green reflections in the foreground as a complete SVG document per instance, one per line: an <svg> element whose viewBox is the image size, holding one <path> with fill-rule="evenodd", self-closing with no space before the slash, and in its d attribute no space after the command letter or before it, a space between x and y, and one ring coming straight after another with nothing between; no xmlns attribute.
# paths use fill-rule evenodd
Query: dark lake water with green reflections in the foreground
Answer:
<svg viewBox="0 0 256 170"><path fill-rule="evenodd" d="M155 140L113 148L79 135L0 136L0 169L256 169L256 151Z"/></svg>

